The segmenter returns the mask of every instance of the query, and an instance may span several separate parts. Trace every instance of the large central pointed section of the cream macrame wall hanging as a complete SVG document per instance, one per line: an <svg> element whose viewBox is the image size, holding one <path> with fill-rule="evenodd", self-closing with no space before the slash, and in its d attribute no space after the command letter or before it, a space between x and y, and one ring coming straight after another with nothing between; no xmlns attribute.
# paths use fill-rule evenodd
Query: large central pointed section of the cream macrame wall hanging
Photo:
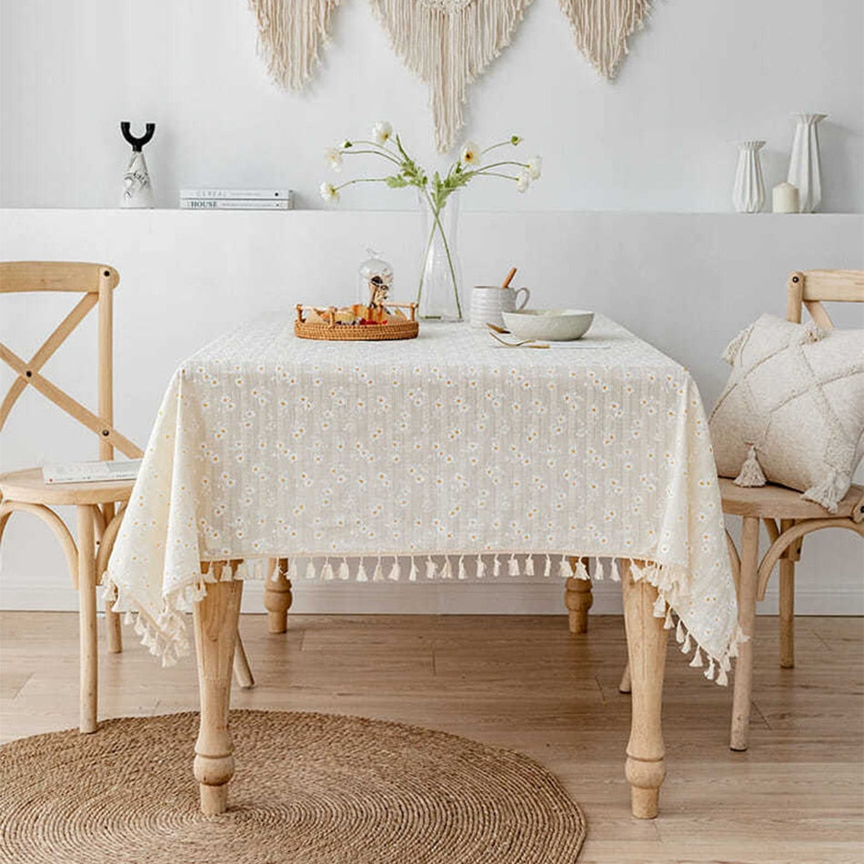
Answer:
<svg viewBox="0 0 864 864"><path fill-rule="evenodd" d="M467 85L510 44L531 0L371 0L390 44L431 88L439 152L465 124Z"/></svg>

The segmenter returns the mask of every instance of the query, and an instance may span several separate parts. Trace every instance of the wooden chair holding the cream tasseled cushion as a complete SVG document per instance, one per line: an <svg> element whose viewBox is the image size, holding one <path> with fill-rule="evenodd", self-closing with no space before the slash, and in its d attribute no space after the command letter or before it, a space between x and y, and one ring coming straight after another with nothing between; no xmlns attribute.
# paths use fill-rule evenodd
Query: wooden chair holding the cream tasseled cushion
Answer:
<svg viewBox="0 0 864 864"><path fill-rule="evenodd" d="M802 307L825 329L833 327L823 301L864 302L864 271L808 270L789 276L787 319L799 324ZM723 512L743 519L741 554L729 539L732 570L738 588L738 621L751 637L738 648L729 746L746 750L753 688L753 629L757 600L765 598L769 578L779 562L779 643L780 667L792 668L794 656L795 562L804 537L822 528L849 528L864 536L864 487L852 486L836 513L805 500L800 493L768 484L739 487L720 478ZM759 523L770 539L768 551L759 561Z"/></svg>

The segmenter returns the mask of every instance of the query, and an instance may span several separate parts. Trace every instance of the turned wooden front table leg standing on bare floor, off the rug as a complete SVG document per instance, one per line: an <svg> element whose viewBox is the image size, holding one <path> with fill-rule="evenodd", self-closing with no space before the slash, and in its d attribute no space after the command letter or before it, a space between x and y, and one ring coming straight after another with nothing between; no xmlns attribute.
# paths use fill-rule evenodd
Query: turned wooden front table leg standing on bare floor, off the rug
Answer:
<svg viewBox="0 0 864 864"><path fill-rule="evenodd" d="M657 588L645 579L634 582L629 564L624 570L621 582L632 693L625 773L633 815L638 819L654 819L658 814L660 786L666 777L660 711L668 630L663 628L663 618L654 617Z"/></svg>

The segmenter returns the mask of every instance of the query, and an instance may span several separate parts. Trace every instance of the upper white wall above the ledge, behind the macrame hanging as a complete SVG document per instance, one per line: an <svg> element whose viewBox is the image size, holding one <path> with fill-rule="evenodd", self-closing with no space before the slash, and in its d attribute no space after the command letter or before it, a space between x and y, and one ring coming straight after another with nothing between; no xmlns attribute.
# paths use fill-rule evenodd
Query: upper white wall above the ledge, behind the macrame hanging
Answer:
<svg viewBox="0 0 864 864"><path fill-rule="evenodd" d="M546 160L526 196L467 190L477 210L730 209L734 142L766 138L768 186L785 176L792 111L822 111L824 206L864 211L861 0L665 0L615 83L573 45L556 0L536 0L514 44L470 89L466 136L517 131ZM121 119L155 120L146 147L159 206L181 186L289 186L322 206L321 153L387 118L432 160L427 91L365 0L337 9L302 95L256 57L246 0L0 3L0 205L115 206ZM358 163L356 162L357 166ZM344 206L410 208L410 193L355 187Z"/></svg>

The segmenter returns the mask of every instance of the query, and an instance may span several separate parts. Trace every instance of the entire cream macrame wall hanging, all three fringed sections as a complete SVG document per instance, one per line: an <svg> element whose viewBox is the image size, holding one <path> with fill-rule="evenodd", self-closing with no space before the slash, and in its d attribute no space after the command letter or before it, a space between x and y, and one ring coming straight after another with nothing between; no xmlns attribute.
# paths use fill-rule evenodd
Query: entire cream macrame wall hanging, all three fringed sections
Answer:
<svg viewBox="0 0 864 864"><path fill-rule="evenodd" d="M449 150L465 123L467 86L510 44L532 0L370 0L390 44L426 82L439 151ZM611 78L627 54L628 37L650 0L559 0L576 45L600 75ZM277 84L302 89L327 42L339 0L250 0L267 71Z"/></svg>

